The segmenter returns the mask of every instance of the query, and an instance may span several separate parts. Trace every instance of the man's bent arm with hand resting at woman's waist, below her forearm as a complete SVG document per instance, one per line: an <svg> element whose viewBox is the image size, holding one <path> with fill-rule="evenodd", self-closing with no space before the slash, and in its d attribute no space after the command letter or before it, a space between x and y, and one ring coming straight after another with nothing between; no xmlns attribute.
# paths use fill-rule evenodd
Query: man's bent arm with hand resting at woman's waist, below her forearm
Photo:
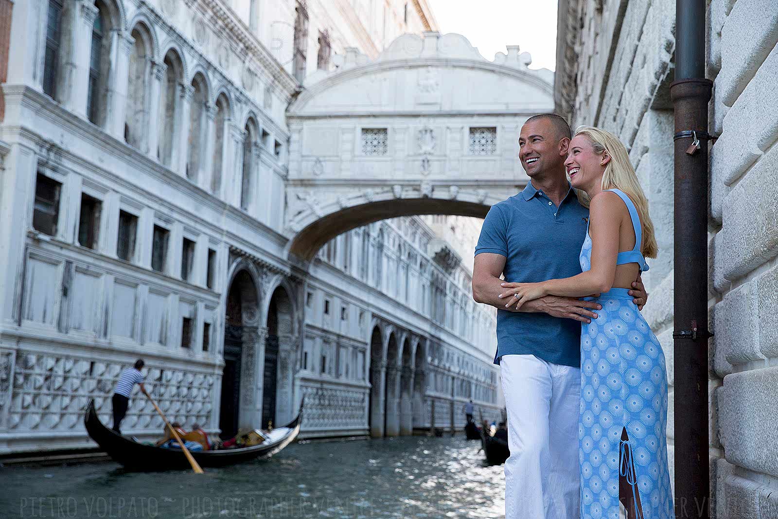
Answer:
<svg viewBox="0 0 778 519"><path fill-rule="evenodd" d="M505 289L499 276L505 268L505 256L492 252L482 252L475 256L473 264L473 300L476 303L489 304L499 310L544 312L553 317L591 322L597 315L589 309L600 310L601 306L592 301L580 301L573 297L545 296L522 305L520 310L506 308L507 301L499 298Z"/></svg>

